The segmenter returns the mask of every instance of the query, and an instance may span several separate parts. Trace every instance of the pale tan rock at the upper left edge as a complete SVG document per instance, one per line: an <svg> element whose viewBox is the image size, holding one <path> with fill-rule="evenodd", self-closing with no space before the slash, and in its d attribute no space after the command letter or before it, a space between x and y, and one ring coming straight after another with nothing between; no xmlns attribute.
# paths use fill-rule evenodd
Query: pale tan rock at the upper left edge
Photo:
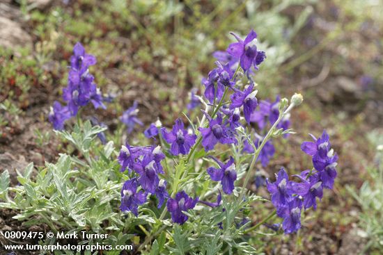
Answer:
<svg viewBox="0 0 383 255"><path fill-rule="evenodd" d="M32 47L32 38L17 22L0 17L0 46L10 49Z"/></svg>

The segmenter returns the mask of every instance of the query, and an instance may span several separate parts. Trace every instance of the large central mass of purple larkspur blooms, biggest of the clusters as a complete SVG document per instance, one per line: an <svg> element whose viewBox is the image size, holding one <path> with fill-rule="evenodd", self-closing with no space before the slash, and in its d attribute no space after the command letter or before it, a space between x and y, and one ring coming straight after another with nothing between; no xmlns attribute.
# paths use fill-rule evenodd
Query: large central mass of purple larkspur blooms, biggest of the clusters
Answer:
<svg viewBox="0 0 383 255"><path fill-rule="evenodd" d="M258 100L256 99L257 90L253 81L249 85L240 88L237 86L235 78L235 66L234 62L239 62L240 68L244 72L249 72L250 65L253 65L258 69L258 65L265 58L263 51L258 51L256 48L256 33L251 31L247 38L242 41L237 35L233 34L237 38L236 44L230 44L226 52L226 57L230 61L225 62L222 58L221 61L217 61L214 69L208 74L207 79L202 80L202 84L205 86L205 98L208 103L203 102L201 97L196 96L196 89L191 92L191 101L187 108L189 110L200 106L201 103L207 105L217 106L216 110L212 113L203 111L207 122L201 123L198 127L200 138L197 144L197 135L192 129L185 129L184 123L180 118L175 120L173 129L168 131L166 128L160 128L160 125L150 124L148 129L144 131L146 138L155 138L159 136L159 140L167 142L169 144L169 153L173 156L189 155L192 154L192 148L201 145L205 151L211 151L214 147L220 143L223 145L234 144L237 145L237 127L242 126L241 123L241 111L244 115L244 120L249 124L251 122L251 115L255 113L258 106ZM222 54L221 54L222 55ZM238 67L239 69L239 67ZM227 92L233 92L230 96L230 102L223 104L224 96ZM137 119L137 103L134 102L132 108L129 108L123 113L121 121L128 127L128 132L132 131L135 124L142 125ZM194 130L194 129L193 129ZM165 145L166 146L166 145ZM190 155L189 155L190 156ZM121 202L124 206L121 208L125 211L132 211L137 213L136 208L139 204L142 204L143 195L141 194L154 194L159 200L159 206L169 198L168 192L166 192L166 182L162 182L159 178L159 174L163 174L161 161L164 158L159 147L131 147L130 145L123 146L118 157L118 161L121 165L121 171L129 170L129 172L135 172L138 176L134 177L134 181L129 180L127 184L134 183L134 186L129 192L125 192L125 196L130 195L132 199L127 199L122 194ZM237 179L237 172L235 170L234 158L230 157L226 163L222 163L217 158L213 158L219 167L208 167L206 172L210 175L212 181L219 181L221 183L224 193L230 195L235 188L234 183ZM162 186L161 186L162 183ZM126 186L127 186L126 185ZM127 187L124 185L125 190ZM136 192L139 188L143 193ZM161 190L161 192L159 192ZM173 193L174 190L173 190ZM137 199L133 199L134 196L139 196ZM201 201L202 204L208 206L218 206L221 201L221 193L217 197L217 203L210 203ZM182 211L187 211L194 208L198 202L198 197L192 199L183 190L177 192L174 198L169 198L166 203L167 210L171 213L173 222L183 224L187 220L187 215Z"/></svg>

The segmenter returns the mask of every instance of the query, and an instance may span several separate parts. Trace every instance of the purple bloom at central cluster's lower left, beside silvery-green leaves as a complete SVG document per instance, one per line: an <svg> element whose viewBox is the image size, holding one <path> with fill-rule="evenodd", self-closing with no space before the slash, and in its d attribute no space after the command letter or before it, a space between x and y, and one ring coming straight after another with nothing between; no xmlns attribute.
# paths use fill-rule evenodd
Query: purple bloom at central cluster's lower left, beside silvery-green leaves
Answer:
<svg viewBox="0 0 383 255"><path fill-rule="evenodd" d="M136 178L125 181L121 190L120 205L121 211L131 211L136 216L139 215L138 206L146 201L146 193L142 190L136 192L137 186Z"/></svg>

